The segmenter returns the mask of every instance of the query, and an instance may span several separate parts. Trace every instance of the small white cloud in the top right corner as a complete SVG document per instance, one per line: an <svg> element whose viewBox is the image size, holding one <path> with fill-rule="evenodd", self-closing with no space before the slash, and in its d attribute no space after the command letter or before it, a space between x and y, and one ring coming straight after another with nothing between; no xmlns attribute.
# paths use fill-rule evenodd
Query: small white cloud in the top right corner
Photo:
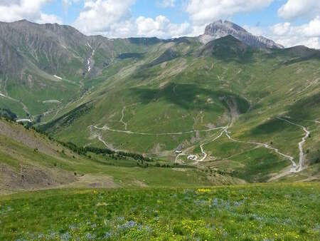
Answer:
<svg viewBox="0 0 320 241"><path fill-rule="evenodd" d="M314 17L319 13L319 0L288 0L278 9L278 15L283 19L294 19L300 16Z"/></svg>

